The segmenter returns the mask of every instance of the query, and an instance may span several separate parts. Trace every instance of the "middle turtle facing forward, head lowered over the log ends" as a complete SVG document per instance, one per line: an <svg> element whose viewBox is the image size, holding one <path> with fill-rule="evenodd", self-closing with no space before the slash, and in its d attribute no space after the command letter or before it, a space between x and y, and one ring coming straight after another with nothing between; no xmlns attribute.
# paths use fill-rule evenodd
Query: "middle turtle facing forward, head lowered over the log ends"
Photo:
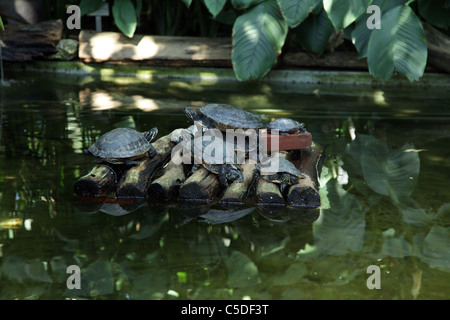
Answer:
<svg viewBox="0 0 450 320"><path fill-rule="evenodd" d="M191 150L195 161L191 173L200 168L200 166L203 166L209 172L217 174L220 184L224 187L228 186L229 183L242 182L244 180L244 175L241 166L234 161L235 152L233 146L221 140L220 143L223 143L223 158L216 159L215 156L204 152L205 150L207 151L205 148L207 148L210 143L213 142L205 141L202 137L192 140Z"/></svg>

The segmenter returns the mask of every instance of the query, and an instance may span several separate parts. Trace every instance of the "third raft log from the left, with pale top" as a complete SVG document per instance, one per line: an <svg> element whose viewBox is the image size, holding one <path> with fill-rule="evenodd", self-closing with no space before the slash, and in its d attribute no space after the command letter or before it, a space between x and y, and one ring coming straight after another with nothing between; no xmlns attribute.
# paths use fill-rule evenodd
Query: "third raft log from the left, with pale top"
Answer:
<svg viewBox="0 0 450 320"><path fill-rule="evenodd" d="M163 201L170 200L179 193L185 180L184 165L171 160L164 168L164 174L150 184L148 196Z"/></svg>

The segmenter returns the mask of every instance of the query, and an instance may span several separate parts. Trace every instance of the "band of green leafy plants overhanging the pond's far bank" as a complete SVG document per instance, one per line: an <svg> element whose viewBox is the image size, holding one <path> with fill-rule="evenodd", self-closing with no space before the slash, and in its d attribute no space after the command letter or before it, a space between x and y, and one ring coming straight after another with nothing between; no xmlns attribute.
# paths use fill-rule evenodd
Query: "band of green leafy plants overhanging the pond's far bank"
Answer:
<svg viewBox="0 0 450 320"><path fill-rule="evenodd" d="M422 24L446 33L450 26L450 0L44 0L53 18L63 18L69 4L86 15L105 2L106 27L128 37L231 36L239 80L263 77L283 50L301 48L319 55L357 50L373 76L386 80L398 72L415 81L427 63ZM367 27L370 5L381 9L381 29Z"/></svg>

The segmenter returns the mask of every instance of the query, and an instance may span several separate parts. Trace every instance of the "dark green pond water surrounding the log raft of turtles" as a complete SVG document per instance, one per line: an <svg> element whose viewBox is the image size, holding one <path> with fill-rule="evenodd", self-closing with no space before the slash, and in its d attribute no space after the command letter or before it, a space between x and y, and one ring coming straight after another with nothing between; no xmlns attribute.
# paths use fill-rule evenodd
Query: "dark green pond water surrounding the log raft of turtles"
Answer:
<svg viewBox="0 0 450 320"><path fill-rule="evenodd" d="M450 297L448 91L6 78L0 299ZM92 168L83 150L102 133L163 136L190 125L186 105L211 102L304 122L324 146L321 208L214 221L173 202L113 215L77 199L73 184ZM71 265L80 289L67 287Z"/></svg>

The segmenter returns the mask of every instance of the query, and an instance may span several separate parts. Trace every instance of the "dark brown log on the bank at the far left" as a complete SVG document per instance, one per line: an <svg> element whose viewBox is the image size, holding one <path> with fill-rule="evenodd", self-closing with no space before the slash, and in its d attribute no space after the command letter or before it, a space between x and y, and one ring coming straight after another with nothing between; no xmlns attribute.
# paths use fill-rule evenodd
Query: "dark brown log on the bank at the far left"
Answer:
<svg viewBox="0 0 450 320"><path fill-rule="evenodd" d="M61 20L45 21L34 25L6 25L2 37L6 47L2 49L5 61L32 61L57 52L56 45L62 38Z"/></svg>

